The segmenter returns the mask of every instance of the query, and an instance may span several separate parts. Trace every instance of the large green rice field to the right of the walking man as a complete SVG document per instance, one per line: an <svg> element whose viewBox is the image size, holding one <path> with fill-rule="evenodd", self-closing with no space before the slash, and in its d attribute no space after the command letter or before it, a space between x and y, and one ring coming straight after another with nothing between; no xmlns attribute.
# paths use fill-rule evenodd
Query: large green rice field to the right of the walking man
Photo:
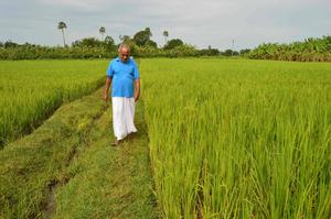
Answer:
<svg viewBox="0 0 331 219"><path fill-rule="evenodd" d="M164 218L330 218L331 64L142 59Z"/></svg>

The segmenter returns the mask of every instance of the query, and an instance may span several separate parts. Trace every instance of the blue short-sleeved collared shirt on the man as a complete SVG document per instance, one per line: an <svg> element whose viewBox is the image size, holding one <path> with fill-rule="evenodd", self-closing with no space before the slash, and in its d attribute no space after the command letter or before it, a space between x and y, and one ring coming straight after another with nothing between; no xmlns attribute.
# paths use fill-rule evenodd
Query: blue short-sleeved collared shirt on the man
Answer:
<svg viewBox="0 0 331 219"><path fill-rule="evenodd" d="M126 63L119 57L114 58L107 69L107 76L113 78L113 97L134 97L134 81L139 78L139 70L134 58Z"/></svg>

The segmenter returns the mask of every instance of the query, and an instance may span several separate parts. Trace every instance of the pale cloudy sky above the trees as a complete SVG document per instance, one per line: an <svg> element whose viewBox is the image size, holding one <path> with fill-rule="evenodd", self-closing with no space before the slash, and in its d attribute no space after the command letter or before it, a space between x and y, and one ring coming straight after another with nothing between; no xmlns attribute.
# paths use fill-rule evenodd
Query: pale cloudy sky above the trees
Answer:
<svg viewBox="0 0 331 219"><path fill-rule="evenodd" d="M159 46L181 39L197 48L254 48L260 43L289 43L331 35L331 0L0 0L0 41L62 45L100 39L106 28L132 36L150 28Z"/></svg>

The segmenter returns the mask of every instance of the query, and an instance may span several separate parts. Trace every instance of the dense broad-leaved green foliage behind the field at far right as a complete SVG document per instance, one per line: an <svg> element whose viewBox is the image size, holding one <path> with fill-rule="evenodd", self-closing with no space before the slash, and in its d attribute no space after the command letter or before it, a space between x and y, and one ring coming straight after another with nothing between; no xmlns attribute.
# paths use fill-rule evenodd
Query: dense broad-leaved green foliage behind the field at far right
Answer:
<svg viewBox="0 0 331 219"><path fill-rule="evenodd" d="M310 37L290 44L263 43L246 56L255 59L330 62L331 36Z"/></svg>

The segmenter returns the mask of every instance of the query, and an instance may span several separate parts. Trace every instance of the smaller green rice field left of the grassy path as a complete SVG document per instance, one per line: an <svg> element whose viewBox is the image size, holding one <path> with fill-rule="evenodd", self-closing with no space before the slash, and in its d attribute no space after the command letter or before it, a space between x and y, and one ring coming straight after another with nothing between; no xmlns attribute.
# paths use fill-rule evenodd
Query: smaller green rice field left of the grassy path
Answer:
<svg viewBox="0 0 331 219"><path fill-rule="evenodd" d="M94 61L0 61L0 146L103 85L104 68Z"/></svg>

